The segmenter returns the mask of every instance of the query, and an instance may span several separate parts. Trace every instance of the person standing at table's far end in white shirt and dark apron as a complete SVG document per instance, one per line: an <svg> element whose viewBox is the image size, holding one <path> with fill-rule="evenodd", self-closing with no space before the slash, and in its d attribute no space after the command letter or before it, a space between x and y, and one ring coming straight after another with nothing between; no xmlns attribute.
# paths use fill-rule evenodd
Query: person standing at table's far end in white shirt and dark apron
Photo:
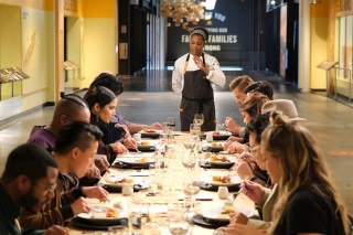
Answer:
<svg viewBox="0 0 353 235"><path fill-rule="evenodd" d="M180 104L181 130L189 131L195 114L203 114L202 131L215 130L215 107L212 83L223 87L225 75L218 61L203 52L208 32L194 28L190 33L190 53L174 64L172 88L182 95Z"/></svg>

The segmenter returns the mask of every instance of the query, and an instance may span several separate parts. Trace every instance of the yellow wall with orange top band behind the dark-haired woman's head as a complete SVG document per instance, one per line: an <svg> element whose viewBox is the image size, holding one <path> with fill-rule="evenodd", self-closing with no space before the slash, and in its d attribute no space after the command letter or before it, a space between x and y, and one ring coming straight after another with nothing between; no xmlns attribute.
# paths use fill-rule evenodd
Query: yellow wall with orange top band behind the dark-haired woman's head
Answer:
<svg viewBox="0 0 353 235"><path fill-rule="evenodd" d="M114 0L79 0L83 18L81 88L87 88L101 71L117 73Z"/></svg>

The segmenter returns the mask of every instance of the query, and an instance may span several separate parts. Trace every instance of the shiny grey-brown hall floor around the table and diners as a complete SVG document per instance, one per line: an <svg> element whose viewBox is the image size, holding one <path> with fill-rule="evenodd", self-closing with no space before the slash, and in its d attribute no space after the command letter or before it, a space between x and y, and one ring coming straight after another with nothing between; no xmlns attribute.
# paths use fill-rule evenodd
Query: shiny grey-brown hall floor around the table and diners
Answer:
<svg viewBox="0 0 353 235"><path fill-rule="evenodd" d="M227 73L229 82L239 73ZM328 164L336 185L344 196L350 213L353 213L353 109L325 96L298 93L279 77L268 73L249 73L255 79L274 83L275 98L292 99L300 116L308 119L304 126L315 136L327 156ZM167 77L167 78L164 78ZM178 117L180 97L171 90L170 72L149 73L147 76L120 77L125 93L120 96L119 110L127 120L150 124L162 122L168 116ZM232 116L242 121L238 107L227 87L215 89L216 115L218 120ZM0 171L8 153L19 143L25 142L32 126L47 124L53 107L46 107L25 117L0 126ZM178 127L176 127L178 128Z"/></svg>

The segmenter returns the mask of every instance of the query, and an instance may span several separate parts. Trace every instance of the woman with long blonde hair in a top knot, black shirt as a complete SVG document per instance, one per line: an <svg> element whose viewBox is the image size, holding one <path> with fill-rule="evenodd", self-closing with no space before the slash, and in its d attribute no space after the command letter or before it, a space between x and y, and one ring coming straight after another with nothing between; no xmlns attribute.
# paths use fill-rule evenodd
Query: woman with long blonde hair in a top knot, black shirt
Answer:
<svg viewBox="0 0 353 235"><path fill-rule="evenodd" d="M324 156L304 127L272 113L270 125L261 135L260 156L279 188L268 234L349 234L344 202L332 182ZM225 231L258 234L237 224Z"/></svg>

